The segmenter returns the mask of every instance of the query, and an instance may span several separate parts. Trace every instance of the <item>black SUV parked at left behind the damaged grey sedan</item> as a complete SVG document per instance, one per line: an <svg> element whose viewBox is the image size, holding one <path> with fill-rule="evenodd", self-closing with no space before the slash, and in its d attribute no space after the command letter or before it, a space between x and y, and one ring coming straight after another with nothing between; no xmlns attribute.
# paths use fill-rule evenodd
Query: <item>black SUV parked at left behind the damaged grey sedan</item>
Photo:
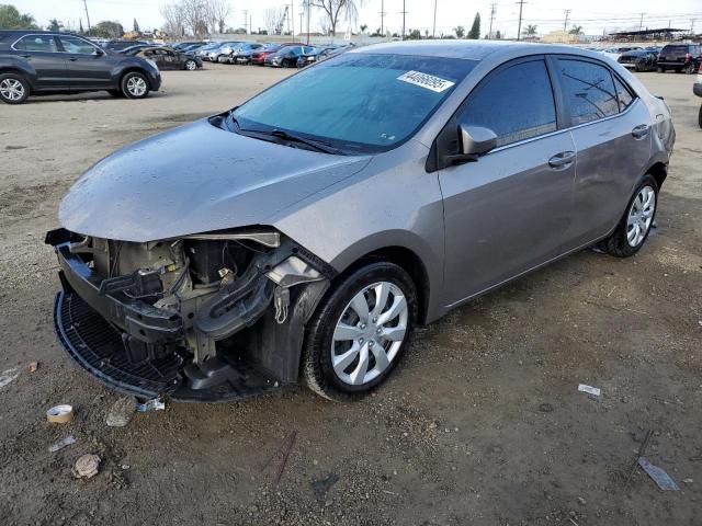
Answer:
<svg viewBox="0 0 702 526"><path fill-rule="evenodd" d="M30 95L106 90L143 99L161 76L150 60L118 55L70 33L0 31L0 101Z"/></svg>

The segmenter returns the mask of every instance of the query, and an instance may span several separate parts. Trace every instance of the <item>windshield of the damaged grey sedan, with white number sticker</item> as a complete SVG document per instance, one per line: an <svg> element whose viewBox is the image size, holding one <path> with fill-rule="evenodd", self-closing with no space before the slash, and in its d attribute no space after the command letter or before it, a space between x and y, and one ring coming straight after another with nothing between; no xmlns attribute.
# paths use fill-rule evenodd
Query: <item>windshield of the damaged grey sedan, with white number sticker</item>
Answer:
<svg viewBox="0 0 702 526"><path fill-rule="evenodd" d="M409 139L476 60L343 54L273 85L233 112L239 132L285 130L348 153Z"/></svg>

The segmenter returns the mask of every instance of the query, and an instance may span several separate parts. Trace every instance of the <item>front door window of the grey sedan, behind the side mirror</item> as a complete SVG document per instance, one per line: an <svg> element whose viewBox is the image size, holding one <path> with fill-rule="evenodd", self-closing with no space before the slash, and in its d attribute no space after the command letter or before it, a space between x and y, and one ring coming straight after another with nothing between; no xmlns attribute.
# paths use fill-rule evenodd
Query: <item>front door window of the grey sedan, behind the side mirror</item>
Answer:
<svg viewBox="0 0 702 526"><path fill-rule="evenodd" d="M510 66L490 76L461 111L462 124L489 128L503 146L556 130L556 106L543 60Z"/></svg>

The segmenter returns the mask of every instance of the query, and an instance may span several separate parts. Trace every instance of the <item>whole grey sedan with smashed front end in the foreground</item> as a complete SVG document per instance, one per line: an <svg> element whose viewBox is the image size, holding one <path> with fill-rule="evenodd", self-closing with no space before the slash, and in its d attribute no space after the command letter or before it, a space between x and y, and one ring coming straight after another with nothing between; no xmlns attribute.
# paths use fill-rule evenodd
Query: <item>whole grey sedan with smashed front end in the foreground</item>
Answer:
<svg viewBox="0 0 702 526"><path fill-rule="evenodd" d="M89 169L46 237L58 338L138 397L303 377L355 399L416 324L593 244L641 250L673 141L665 102L597 53L354 49Z"/></svg>

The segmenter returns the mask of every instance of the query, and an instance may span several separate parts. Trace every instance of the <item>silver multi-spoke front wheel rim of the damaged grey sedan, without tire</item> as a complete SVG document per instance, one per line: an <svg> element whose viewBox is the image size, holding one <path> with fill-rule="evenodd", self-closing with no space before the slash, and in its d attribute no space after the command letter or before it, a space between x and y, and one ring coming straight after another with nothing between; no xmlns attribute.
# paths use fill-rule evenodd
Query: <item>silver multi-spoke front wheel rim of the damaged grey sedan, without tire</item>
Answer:
<svg viewBox="0 0 702 526"><path fill-rule="evenodd" d="M358 293L343 309L332 336L331 365L337 377L362 386L383 374L403 345L408 317L403 291L389 282Z"/></svg>

